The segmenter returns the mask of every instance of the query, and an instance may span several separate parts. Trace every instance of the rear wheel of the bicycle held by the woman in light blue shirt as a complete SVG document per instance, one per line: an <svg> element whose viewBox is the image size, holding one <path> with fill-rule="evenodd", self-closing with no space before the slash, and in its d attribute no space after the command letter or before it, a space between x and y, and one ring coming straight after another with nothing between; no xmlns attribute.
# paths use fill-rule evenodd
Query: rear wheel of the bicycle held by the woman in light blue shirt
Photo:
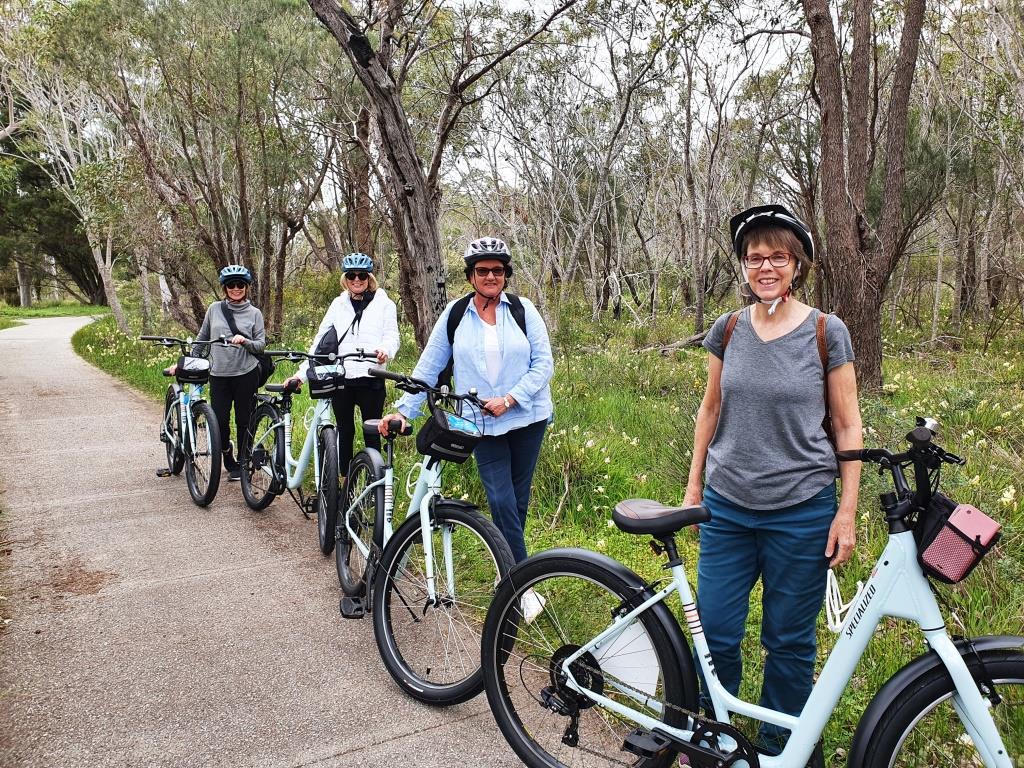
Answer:
<svg viewBox="0 0 1024 768"><path fill-rule="evenodd" d="M384 476L379 455L376 457L377 461L374 461L374 458L364 450L357 453L352 463L348 465L348 476L345 479L345 511L338 519L334 560L338 568L338 583L349 597L361 597L366 594L370 561L352 543L346 523L351 526L367 549L379 553L384 546L384 486L378 486L357 507L353 507L353 500L357 499L368 485Z"/></svg>

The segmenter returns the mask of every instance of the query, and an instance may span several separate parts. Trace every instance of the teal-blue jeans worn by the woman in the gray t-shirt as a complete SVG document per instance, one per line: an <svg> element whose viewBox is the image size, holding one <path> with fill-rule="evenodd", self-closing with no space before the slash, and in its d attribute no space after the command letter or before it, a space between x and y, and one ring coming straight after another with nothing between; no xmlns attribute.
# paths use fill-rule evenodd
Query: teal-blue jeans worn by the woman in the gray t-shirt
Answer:
<svg viewBox="0 0 1024 768"><path fill-rule="evenodd" d="M700 525L697 608L719 680L730 693L738 693L739 646L751 590L760 578L761 645L766 652L761 705L800 715L814 684L815 624L824 601L824 552L836 516L836 484L778 510L745 509L710 487L703 504L712 519ZM710 708L710 697L703 696L703 703ZM762 723L765 752L781 751L784 734L785 729Z"/></svg>

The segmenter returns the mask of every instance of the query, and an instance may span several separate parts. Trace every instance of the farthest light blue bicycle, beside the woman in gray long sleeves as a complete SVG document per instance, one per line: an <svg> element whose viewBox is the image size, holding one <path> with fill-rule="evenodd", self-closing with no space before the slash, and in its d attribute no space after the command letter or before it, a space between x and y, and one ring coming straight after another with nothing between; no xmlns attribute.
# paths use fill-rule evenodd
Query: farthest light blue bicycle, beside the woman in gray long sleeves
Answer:
<svg viewBox="0 0 1024 768"><path fill-rule="evenodd" d="M206 507L220 487L220 429L213 409L203 396L203 387L210 379L207 357L213 342L193 342L173 336L140 336L139 339L181 350L173 374L175 380L167 387L164 397L164 417L160 423L160 441L167 453L167 467L158 470L157 474L176 475L183 468L193 502ZM165 371L164 376L171 374Z"/></svg>

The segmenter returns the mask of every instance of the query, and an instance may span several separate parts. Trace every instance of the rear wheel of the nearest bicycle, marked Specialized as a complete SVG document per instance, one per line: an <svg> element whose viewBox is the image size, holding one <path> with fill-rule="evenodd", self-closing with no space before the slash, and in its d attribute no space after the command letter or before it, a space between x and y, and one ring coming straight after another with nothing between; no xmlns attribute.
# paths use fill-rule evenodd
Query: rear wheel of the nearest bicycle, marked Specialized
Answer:
<svg viewBox="0 0 1024 768"><path fill-rule="evenodd" d="M640 583L639 578L637 583ZM545 598L540 615L526 622L521 599L527 589ZM487 701L506 741L530 768L636 765L662 768L675 760L667 753L646 759L623 751L637 726L595 705L564 685L560 660L607 628L614 611L637 595L629 584L599 563L561 555L542 555L520 563L502 582L487 611L481 660ZM670 630L650 611L640 614L626 634L573 663L573 677L668 725L684 726L681 708L696 706L695 681L680 672L681 650ZM617 687L616 687L617 686ZM623 693L641 690L660 701L660 713ZM561 701L578 712L575 744L566 738L570 718L542 705Z"/></svg>

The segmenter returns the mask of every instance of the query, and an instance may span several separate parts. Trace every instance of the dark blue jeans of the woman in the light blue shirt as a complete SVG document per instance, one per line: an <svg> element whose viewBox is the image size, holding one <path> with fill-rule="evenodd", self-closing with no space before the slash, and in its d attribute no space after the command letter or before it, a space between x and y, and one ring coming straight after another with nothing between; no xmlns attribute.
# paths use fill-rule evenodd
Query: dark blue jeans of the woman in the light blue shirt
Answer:
<svg viewBox="0 0 1024 768"><path fill-rule="evenodd" d="M547 420L505 434L484 437L473 451L490 518L512 548L516 562L526 559L526 509L534 470L541 455Z"/></svg>

